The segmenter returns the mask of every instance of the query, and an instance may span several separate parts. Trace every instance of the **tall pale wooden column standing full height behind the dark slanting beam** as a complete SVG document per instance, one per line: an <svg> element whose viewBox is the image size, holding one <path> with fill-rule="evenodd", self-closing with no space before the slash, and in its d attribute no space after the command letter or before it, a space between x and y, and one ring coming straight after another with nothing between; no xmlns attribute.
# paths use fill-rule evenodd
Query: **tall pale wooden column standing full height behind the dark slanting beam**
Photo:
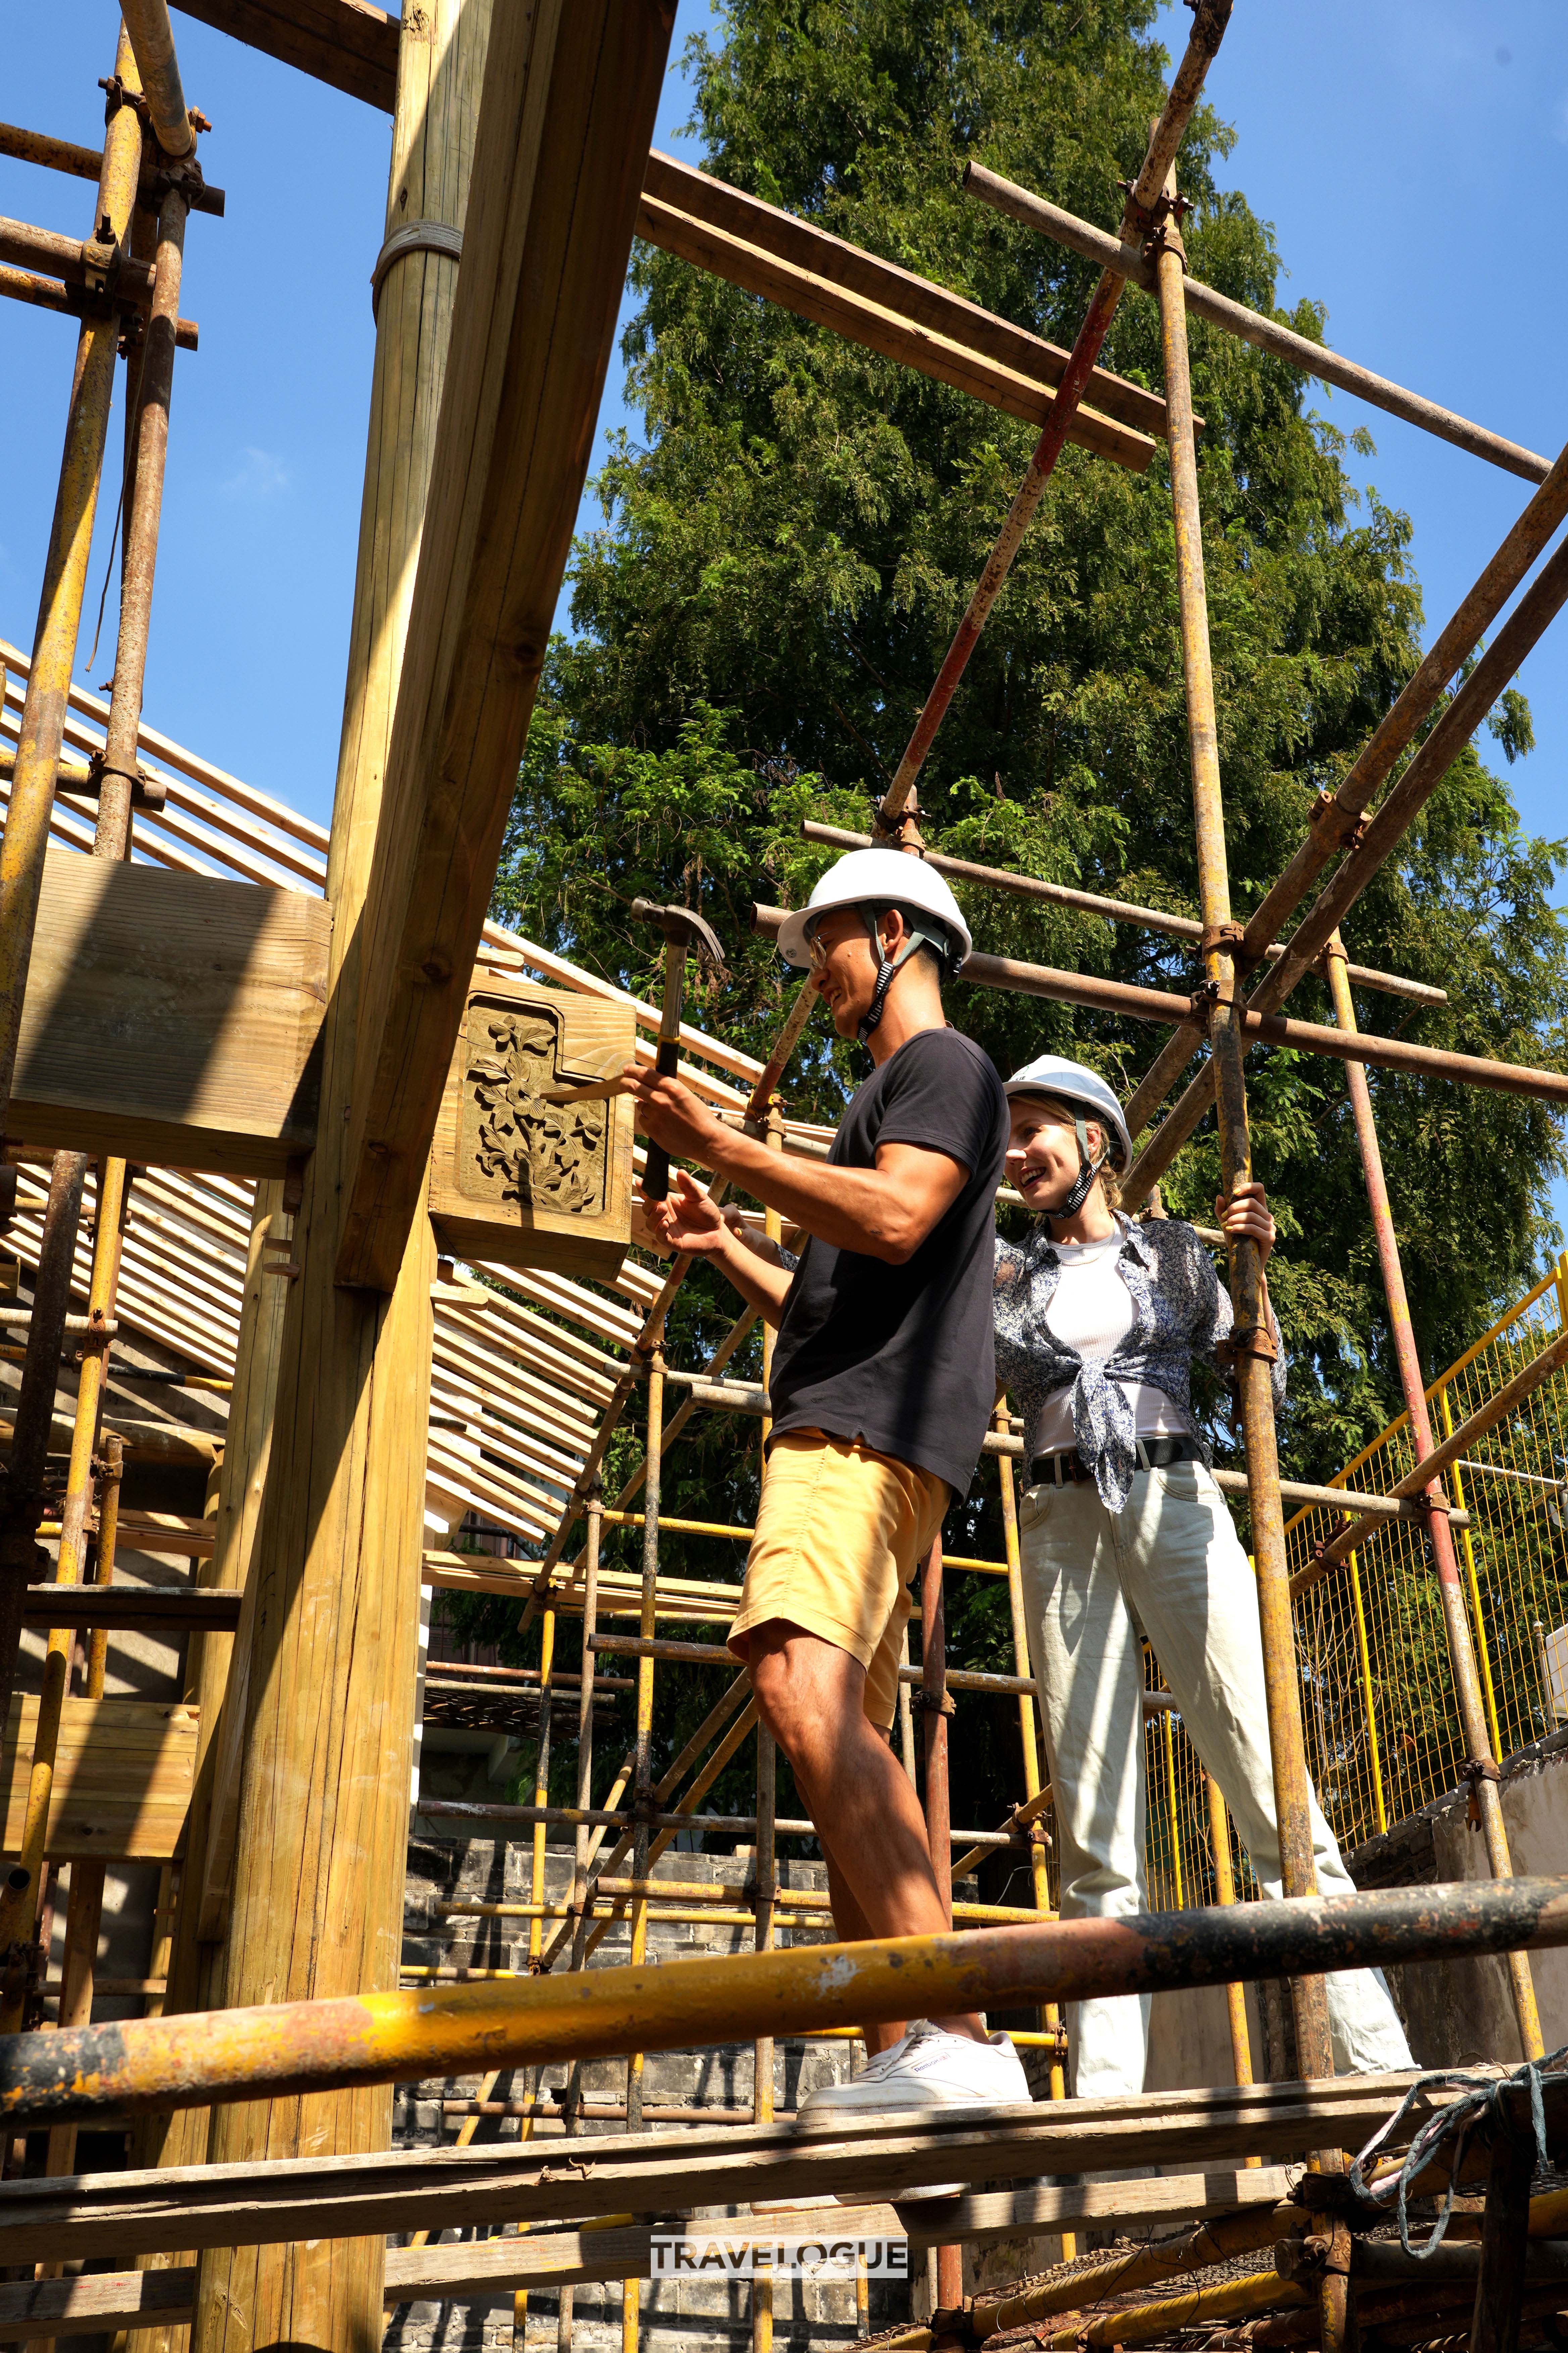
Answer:
<svg viewBox="0 0 1568 2353"><path fill-rule="evenodd" d="M423 0L400 42L388 235L461 228L489 0ZM369 264L371 256L367 256ZM404 247L378 289L343 741L320 1144L306 1165L252 1558L252 1649L223 1998L397 1984L430 1384L430 1228L388 1297L334 1285L362 911L442 400L456 261ZM216 2108L212 2162L386 2148L390 2089ZM383 2242L202 2254L200 2353L381 2346Z"/></svg>

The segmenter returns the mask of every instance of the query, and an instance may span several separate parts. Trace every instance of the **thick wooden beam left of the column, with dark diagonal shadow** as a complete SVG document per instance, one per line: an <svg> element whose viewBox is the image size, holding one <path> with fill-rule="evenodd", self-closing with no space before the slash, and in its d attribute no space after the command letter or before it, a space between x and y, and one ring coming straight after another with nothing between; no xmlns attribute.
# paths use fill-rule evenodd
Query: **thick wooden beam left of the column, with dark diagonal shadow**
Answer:
<svg viewBox="0 0 1568 2353"><path fill-rule="evenodd" d="M16 1049L16 1141L282 1174L315 1141L322 899L45 859Z"/></svg>

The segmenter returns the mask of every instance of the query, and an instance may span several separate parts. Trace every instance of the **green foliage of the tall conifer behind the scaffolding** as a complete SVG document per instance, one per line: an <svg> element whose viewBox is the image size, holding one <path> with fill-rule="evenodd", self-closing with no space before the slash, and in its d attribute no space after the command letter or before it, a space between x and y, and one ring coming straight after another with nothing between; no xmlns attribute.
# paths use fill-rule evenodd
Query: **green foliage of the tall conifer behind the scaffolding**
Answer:
<svg viewBox="0 0 1568 2353"><path fill-rule="evenodd" d="M1091 271L964 198L966 158L1114 224L1159 108L1150 0L726 0L722 42L686 49L705 167L835 235L1070 344ZM1220 184L1229 134L1199 108L1182 148L1197 275L1276 308L1272 231ZM1030 454L1027 426L639 247L625 339L639 440L599 475L602 529L576 548L571 640L550 647L496 911L588 967L656 993L635 892L701 904L733 965L693 1019L752 1052L792 984L748 932L748 901L799 901L825 854L806 814L865 831ZM1220 711L1229 880L1253 908L1418 659L1408 520L1345 473L1319 391L1190 322ZM1103 362L1159 388L1154 306L1128 292ZM1363 431L1356 447L1371 449ZM1488 553L1476 548L1476 562ZM1523 699L1493 722L1530 748ZM922 779L943 847L1197 913L1175 565L1164 445L1145 475L1070 447ZM1521 833L1469 748L1349 927L1359 962L1448 991L1441 1009L1363 993L1359 1019L1427 1045L1563 1066L1559 845ZM980 946L1185 991L1178 944L1063 908L961 892ZM1328 1019L1305 986L1293 1009ZM1072 1049L1133 1085L1161 1033L1034 998L954 991L952 1019L1006 1071ZM820 1024L790 1106L835 1118L863 1064ZM1286 1466L1324 1478L1396 1407L1342 1071L1253 1056L1255 1162L1279 1224L1274 1297L1293 1353ZM1418 1339L1453 1358L1516 1297L1544 1247L1563 1165L1540 1104L1373 1073ZM1166 1181L1208 1217L1206 1127ZM693 1280L672 1322L698 1360L733 1313ZM1218 1400L1215 1400L1218 1405ZM672 1459L670 1504L748 1511L733 1428ZM748 1440L750 1445L750 1440ZM957 1548L999 1551L976 1504ZM712 1574L712 1548L677 1546ZM738 1572L738 1548L722 1553ZM999 1595L990 1640L1006 1664ZM976 1642L983 1626L966 1628ZM978 1654L978 1652L976 1652ZM997 1729L997 1739L1004 1732ZM1016 1739L1006 1732L1006 1739ZM1009 1774L1009 1779L1013 1779Z"/></svg>

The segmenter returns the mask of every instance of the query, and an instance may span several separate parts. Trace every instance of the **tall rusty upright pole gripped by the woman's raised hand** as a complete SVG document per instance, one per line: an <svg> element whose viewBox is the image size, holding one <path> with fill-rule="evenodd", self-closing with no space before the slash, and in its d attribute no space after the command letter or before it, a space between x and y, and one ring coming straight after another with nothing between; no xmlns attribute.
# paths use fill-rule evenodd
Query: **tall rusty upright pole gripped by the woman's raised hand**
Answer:
<svg viewBox="0 0 1568 2353"><path fill-rule="evenodd" d="M1173 184L1166 184L1166 195ZM1187 734L1192 748L1192 807L1197 819L1199 892L1204 913L1204 986L1208 1040L1218 1080L1220 1184L1237 1193L1253 1179L1246 1125L1246 1045L1239 1026L1237 948L1241 925L1229 913L1225 861L1225 805L1220 795L1220 748L1215 734L1213 666L1208 656L1208 607L1204 588L1204 536L1199 515L1197 456L1192 442L1192 376L1187 367L1187 304L1182 294L1182 242L1171 224L1159 235L1159 322L1166 362L1166 409L1171 424L1171 499L1175 511L1175 572L1187 678ZM1312 1864L1312 1814L1307 1748L1302 1737L1295 1635L1291 1628L1291 1581L1286 1525L1279 1499L1279 1447L1269 1365L1267 1292L1255 1242L1229 1245L1229 1289L1237 1311L1234 1367L1241 1391L1246 1480L1258 1565L1258 1617L1262 1624L1262 1671L1274 1751L1274 1809L1279 1819L1279 1868L1286 1897L1316 1894ZM1302 2075L1333 2075L1328 1998L1321 1977L1291 1986L1295 2042Z"/></svg>

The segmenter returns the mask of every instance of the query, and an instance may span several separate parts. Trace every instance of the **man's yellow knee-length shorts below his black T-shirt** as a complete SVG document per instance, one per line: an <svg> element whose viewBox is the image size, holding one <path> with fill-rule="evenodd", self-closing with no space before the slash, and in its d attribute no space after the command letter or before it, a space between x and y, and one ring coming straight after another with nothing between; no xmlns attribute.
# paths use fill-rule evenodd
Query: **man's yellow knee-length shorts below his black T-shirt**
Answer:
<svg viewBox="0 0 1568 2353"><path fill-rule="evenodd" d="M860 1661L865 1713L886 1732L898 1713L910 1579L947 1501L947 1480L933 1471L849 1438L823 1431L776 1438L741 1609L729 1628L733 1657L745 1659L748 1631L771 1619L820 1635Z"/></svg>

